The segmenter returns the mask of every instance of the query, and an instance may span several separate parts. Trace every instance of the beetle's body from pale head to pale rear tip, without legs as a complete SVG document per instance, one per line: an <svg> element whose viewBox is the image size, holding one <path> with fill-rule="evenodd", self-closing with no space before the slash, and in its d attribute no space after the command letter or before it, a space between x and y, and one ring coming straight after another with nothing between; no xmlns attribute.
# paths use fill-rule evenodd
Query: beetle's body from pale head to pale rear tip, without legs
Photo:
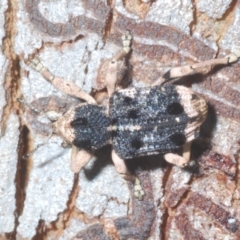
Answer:
<svg viewBox="0 0 240 240"><path fill-rule="evenodd" d="M116 91L109 100L109 113L90 104L70 111L71 117L67 112L60 120L65 125L58 123L67 141L88 151L112 142L117 155L129 159L171 152L195 139L207 105L186 87L166 85ZM71 138L66 128L71 128Z"/></svg>

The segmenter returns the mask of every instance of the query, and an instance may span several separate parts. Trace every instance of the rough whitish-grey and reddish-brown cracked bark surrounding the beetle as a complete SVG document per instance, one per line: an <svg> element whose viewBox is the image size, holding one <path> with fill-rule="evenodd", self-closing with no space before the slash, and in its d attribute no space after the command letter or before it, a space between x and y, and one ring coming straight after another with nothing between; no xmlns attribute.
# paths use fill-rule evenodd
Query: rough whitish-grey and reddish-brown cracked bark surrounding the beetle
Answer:
<svg viewBox="0 0 240 240"><path fill-rule="evenodd" d="M134 39L125 85L138 87L171 67L234 52L239 19L237 0L1 0L0 239L240 239L239 62L180 80L209 104L192 146L197 164L182 170L160 155L128 161L146 192L143 201L116 173L109 146L80 174L70 171L71 150L58 136L48 140L51 123L43 112L63 113L79 100L25 64L38 56L103 102L100 68L121 48L126 30Z"/></svg>

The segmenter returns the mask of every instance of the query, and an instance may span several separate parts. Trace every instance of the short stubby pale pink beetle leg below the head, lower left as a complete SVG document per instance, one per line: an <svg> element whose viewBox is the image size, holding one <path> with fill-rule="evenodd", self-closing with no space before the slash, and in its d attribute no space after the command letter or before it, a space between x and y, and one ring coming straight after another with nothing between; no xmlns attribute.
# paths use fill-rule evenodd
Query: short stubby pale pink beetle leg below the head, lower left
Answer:
<svg viewBox="0 0 240 240"><path fill-rule="evenodd" d="M80 170L90 161L92 154L85 150L78 150L76 146L72 146L71 166L70 169L74 173L79 173Z"/></svg>

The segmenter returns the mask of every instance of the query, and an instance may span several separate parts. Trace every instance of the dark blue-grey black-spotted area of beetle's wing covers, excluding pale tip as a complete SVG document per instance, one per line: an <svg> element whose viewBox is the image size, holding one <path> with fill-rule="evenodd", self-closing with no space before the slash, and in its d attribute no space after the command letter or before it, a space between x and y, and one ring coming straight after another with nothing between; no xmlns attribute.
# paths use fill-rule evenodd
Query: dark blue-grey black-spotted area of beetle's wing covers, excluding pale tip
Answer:
<svg viewBox="0 0 240 240"><path fill-rule="evenodd" d="M188 124L199 120L199 115L190 117L184 111L174 85L116 92L110 99L109 115L116 127L112 145L123 159L182 147L188 141Z"/></svg>

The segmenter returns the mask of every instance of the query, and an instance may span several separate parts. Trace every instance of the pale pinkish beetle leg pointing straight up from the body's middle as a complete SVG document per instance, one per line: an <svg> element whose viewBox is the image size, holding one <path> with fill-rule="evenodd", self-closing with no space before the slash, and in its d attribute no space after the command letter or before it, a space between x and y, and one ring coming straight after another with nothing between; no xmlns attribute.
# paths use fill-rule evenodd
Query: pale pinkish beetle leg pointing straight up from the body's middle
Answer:
<svg viewBox="0 0 240 240"><path fill-rule="evenodd" d="M117 71L118 71L118 61L122 60L127 56L127 54L131 51L131 41L132 35L130 32L127 32L122 36L123 48L116 53L108 62L105 82L107 86L107 91L109 97L115 91L116 82L117 82Z"/></svg>

